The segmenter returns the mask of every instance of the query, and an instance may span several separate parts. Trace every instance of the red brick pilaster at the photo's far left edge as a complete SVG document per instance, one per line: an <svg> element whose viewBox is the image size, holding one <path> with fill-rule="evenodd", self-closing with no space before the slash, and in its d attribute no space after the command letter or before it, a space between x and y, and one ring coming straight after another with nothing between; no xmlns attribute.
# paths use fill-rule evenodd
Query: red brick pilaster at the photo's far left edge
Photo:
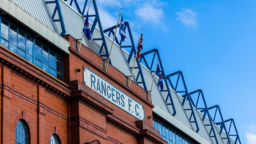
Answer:
<svg viewBox="0 0 256 144"><path fill-rule="evenodd" d="M2 71L2 81L3 81L3 89L2 89L2 143L10 143L10 131L11 125L10 123L10 99L11 95L11 69L4 65Z"/></svg>

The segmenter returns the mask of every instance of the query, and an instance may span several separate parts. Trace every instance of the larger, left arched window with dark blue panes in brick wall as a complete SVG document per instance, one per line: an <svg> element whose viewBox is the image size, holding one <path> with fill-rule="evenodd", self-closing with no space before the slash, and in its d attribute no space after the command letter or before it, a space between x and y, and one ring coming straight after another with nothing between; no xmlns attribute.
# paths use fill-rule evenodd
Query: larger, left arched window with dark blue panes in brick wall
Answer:
<svg viewBox="0 0 256 144"><path fill-rule="evenodd" d="M28 144L28 127L23 120L16 125L16 144Z"/></svg>

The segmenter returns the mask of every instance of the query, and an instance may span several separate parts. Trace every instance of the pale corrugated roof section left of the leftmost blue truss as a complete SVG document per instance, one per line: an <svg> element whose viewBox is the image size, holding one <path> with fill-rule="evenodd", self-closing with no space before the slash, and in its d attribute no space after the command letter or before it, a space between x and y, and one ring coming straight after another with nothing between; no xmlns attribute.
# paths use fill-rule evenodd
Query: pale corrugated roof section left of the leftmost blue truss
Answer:
<svg viewBox="0 0 256 144"><path fill-rule="evenodd" d="M51 16L43 0L12 0L15 4L55 31Z"/></svg>

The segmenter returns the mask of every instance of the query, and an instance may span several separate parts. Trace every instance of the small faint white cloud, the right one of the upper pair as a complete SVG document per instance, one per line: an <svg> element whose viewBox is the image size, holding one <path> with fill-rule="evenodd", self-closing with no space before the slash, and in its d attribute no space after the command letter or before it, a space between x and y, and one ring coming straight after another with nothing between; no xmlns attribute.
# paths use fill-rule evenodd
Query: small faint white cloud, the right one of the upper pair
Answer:
<svg viewBox="0 0 256 144"><path fill-rule="evenodd" d="M197 13L191 9L182 9L181 12L176 12L177 21L181 21L187 27L197 26L196 18L198 17Z"/></svg>

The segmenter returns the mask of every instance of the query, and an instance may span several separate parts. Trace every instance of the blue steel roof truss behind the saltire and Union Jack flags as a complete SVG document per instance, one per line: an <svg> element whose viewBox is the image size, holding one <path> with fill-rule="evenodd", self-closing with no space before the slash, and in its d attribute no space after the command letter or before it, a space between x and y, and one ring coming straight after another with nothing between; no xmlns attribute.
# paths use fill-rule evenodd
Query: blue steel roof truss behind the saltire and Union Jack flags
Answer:
<svg viewBox="0 0 256 144"><path fill-rule="evenodd" d="M120 25L118 25L118 27L120 27ZM114 29L116 28L116 25L115 26L112 26L108 29L105 29L103 32L106 33L106 32L109 32L108 33L108 36L110 37L111 34L114 35ZM132 55L136 54L136 49L135 49L135 45L134 45L134 41L133 41L133 37L132 37L132 32L131 32L131 28L130 28L130 25L128 22L124 22L124 30L126 30L126 28L128 29L128 32L129 32L129 37L130 37L130 40L131 40L131 45L130 46L122 46L122 41L119 42L118 38L115 37L115 42L121 47L121 48L131 48L131 52L129 54L129 57L127 59L127 62L128 62L128 65L130 65L130 62L131 62L131 58L132 58ZM143 76L143 73L142 73L142 70L141 70L141 65L140 65L140 62L138 59L136 59L136 62L137 62L137 65L138 67L135 67L134 69L138 69L139 72L138 72L138 75L136 76L136 82L137 84L142 84L143 85L143 88L147 91L147 86L146 86L146 83L145 83L145 80L144 80L144 76ZM130 67L130 69L132 69L132 67ZM138 81L139 79L139 76L141 77L141 81Z"/></svg>

